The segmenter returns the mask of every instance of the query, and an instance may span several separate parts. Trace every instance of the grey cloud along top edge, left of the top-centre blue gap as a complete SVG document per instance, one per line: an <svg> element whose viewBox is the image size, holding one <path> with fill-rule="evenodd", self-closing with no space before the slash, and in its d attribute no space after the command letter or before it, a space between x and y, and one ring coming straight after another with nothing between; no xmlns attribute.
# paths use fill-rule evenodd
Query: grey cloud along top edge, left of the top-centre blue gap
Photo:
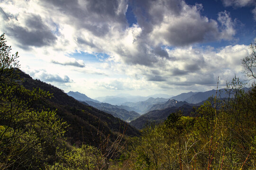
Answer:
<svg viewBox="0 0 256 170"><path fill-rule="evenodd" d="M128 26L125 17L127 0L46 0L46 2L41 3L45 7L51 6L69 16L66 19L69 19L77 29L85 28L95 36L105 36L113 26L118 26L120 29Z"/></svg>

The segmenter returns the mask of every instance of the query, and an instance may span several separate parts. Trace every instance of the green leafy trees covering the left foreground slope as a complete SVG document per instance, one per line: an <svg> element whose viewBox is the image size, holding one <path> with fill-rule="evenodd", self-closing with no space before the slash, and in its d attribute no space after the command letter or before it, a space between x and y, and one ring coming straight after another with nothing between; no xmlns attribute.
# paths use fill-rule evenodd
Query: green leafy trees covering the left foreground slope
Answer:
<svg viewBox="0 0 256 170"><path fill-rule="evenodd" d="M66 123L55 111L37 110L36 103L52 94L40 88L27 90L18 77L18 52L11 54L0 36L0 169L43 167L62 144Z"/></svg>

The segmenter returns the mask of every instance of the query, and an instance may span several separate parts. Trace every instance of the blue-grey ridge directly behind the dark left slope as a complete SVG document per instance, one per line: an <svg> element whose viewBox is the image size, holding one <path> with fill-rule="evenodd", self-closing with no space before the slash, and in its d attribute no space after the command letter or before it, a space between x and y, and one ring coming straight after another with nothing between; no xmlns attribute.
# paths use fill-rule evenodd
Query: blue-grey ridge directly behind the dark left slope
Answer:
<svg viewBox="0 0 256 170"><path fill-rule="evenodd" d="M105 111L107 113L110 113L114 117L117 117L119 119L125 120L125 121L130 121L132 119L135 119L140 116L135 111L132 111L131 108L128 106L117 106L117 105L112 105L109 103L96 103L96 102L91 102L91 101L86 101L90 106L95 107L99 110ZM130 110L126 110L126 109Z"/></svg>

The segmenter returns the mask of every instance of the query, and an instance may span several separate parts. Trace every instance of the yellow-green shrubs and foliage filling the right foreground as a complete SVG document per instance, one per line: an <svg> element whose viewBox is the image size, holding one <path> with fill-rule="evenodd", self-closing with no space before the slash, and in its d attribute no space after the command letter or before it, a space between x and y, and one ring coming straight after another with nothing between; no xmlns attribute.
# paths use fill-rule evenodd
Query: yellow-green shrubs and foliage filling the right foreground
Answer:
<svg viewBox="0 0 256 170"><path fill-rule="evenodd" d="M137 170L252 170L256 168L256 87L245 93L237 77L233 98L205 102L196 117L171 113L164 124L146 127L133 143ZM214 104L215 102L215 104ZM220 106L214 107L216 103Z"/></svg>

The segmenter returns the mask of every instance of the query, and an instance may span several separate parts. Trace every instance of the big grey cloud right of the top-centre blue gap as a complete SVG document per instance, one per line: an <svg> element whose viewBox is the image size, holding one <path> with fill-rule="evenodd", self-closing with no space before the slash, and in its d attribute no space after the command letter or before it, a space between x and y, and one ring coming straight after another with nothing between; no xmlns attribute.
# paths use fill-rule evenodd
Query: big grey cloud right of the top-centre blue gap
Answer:
<svg viewBox="0 0 256 170"><path fill-rule="evenodd" d="M189 6L178 0L148 0L145 6L136 7L135 14L142 36L152 43L183 46L227 39L221 34L233 26L222 22L226 27L220 28L216 20L201 16L202 8L201 4Z"/></svg>

